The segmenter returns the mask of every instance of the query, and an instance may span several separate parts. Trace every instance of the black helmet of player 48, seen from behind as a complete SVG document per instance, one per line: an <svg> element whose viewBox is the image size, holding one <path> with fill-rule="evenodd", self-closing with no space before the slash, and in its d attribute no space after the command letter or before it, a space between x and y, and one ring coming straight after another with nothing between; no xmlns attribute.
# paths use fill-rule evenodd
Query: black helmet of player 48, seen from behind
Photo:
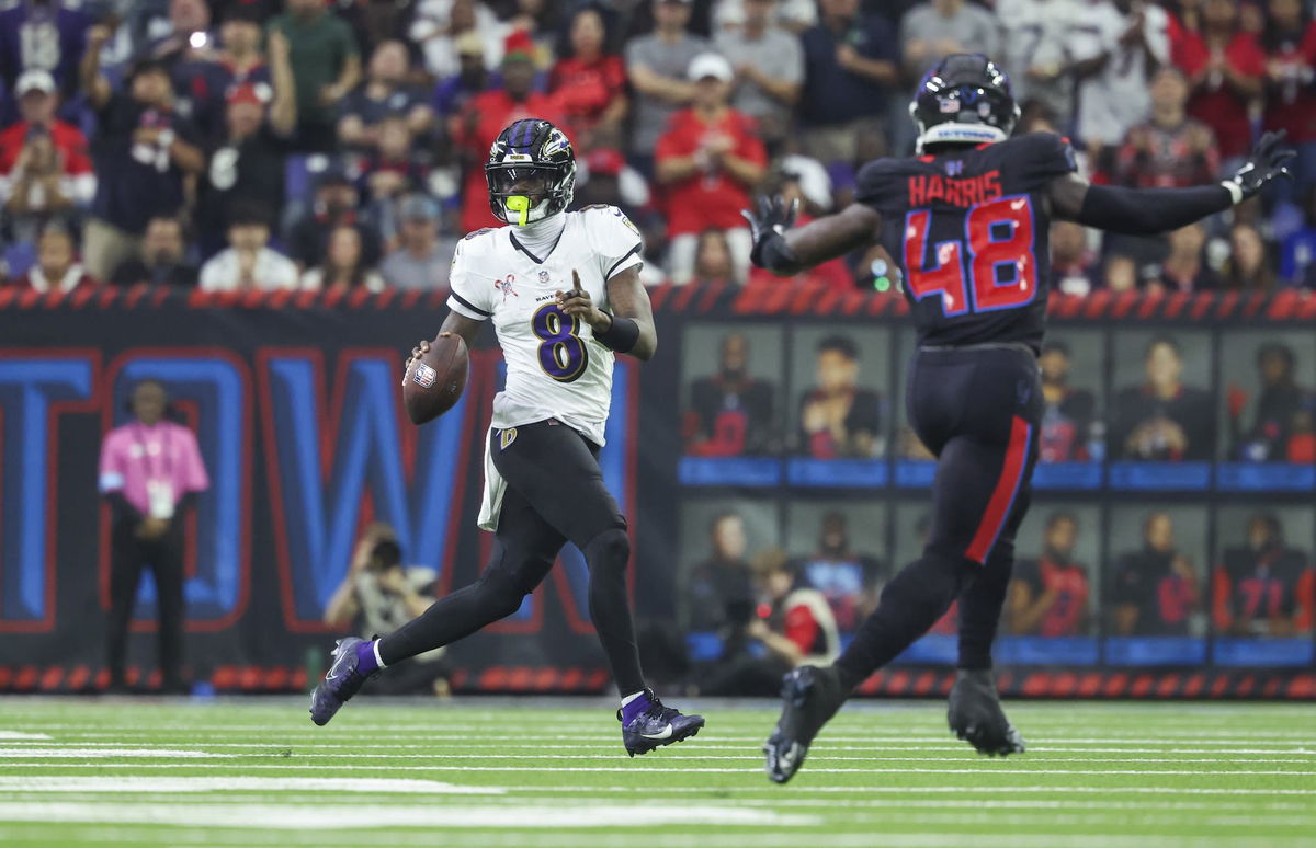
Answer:
<svg viewBox="0 0 1316 848"><path fill-rule="evenodd" d="M928 145L1005 141L1019 104L1000 66L980 53L953 53L923 75L909 117L923 153Z"/></svg>

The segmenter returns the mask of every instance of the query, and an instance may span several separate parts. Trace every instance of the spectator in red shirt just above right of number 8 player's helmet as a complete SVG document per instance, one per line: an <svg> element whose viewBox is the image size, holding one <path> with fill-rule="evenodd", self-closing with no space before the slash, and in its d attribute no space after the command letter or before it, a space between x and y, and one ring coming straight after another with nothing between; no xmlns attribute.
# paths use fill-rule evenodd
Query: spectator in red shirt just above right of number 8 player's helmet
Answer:
<svg viewBox="0 0 1316 848"><path fill-rule="evenodd" d="M576 145L592 147L596 126L619 128L626 117L626 68L621 57L604 54L603 16L583 7L571 18L571 55L558 59L549 93L567 118Z"/></svg>

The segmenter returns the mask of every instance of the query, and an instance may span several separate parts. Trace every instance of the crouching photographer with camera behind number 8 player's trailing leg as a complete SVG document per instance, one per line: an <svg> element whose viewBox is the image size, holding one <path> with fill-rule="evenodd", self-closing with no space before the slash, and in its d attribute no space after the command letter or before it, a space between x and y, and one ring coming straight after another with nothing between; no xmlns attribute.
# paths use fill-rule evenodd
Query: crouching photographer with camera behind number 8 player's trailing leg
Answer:
<svg viewBox="0 0 1316 848"><path fill-rule="evenodd" d="M324 622L374 639L397 630L434 602L437 572L433 568L403 568L397 534L386 523L366 527L342 582L325 606ZM391 695L450 693L451 672L443 661L446 648L417 655L411 663L390 665L371 678L374 692Z"/></svg>

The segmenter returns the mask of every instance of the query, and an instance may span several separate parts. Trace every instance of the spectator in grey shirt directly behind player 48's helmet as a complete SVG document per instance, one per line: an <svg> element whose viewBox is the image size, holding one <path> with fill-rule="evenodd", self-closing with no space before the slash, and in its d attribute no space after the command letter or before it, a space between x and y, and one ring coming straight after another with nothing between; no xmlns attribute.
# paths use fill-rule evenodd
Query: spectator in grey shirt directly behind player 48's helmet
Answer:
<svg viewBox="0 0 1316 848"><path fill-rule="evenodd" d="M826 11L822 12L826 17ZM917 79L950 53L982 53L1003 60L1000 22L980 5L966 0L928 0L905 12L900 45L908 76ZM1021 74L1023 68L1011 68ZM892 80L895 82L895 80Z"/></svg>

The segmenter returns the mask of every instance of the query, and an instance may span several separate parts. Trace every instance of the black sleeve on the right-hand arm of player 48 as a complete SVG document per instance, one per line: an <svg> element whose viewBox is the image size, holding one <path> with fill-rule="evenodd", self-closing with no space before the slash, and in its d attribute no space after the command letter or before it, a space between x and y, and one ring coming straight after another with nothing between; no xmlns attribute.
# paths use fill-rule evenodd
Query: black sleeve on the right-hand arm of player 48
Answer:
<svg viewBox="0 0 1316 848"><path fill-rule="evenodd" d="M1224 212L1233 199L1223 185L1123 188L1090 185L1078 222L1109 233L1155 235Z"/></svg>

